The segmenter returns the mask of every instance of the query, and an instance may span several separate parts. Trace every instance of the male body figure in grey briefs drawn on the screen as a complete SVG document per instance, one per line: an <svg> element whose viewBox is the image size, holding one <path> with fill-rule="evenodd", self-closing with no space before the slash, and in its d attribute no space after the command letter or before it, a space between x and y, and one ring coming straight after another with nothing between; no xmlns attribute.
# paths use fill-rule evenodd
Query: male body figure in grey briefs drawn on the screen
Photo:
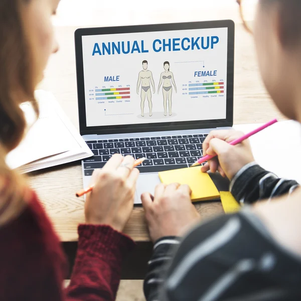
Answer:
<svg viewBox="0 0 301 301"><path fill-rule="evenodd" d="M147 69L147 61L142 62L143 70L139 72L137 81L137 94L139 95L139 87L141 84L141 116L144 117L144 101L145 97L148 101L149 116L153 115L153 103L152 103L152 92L150 91L150 85L153 87L153 93L155 93L155 82L152 71Z"/></svg>

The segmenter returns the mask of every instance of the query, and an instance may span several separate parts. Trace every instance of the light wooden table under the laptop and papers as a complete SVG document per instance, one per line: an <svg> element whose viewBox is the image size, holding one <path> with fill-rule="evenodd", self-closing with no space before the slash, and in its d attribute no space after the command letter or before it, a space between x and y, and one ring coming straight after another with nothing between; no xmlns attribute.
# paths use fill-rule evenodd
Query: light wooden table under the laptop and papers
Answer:
<svg viewBox="0 0 301 301"><path fill-rule="evenodd" d="M55 94L73 124L79 128L73 38L75 30L75 27L57 29L60 51L50 59L41 88ZM252 37L240 24L236 26L235 40L234 124L266 122L275 117L284 119L261 83ZM35 172L29 176L29 182L42 200L68 255L73 257L78 239L77 225L84 222L84 200L74 195L75 191L82 188L80 162ZM202 218L223 213L219 202L201 203L196 207ZM143 208L133 209L124 232L137 242L137 248L125 264L128 271L125 267L123 277L142 278L152 248Z"/></svg>

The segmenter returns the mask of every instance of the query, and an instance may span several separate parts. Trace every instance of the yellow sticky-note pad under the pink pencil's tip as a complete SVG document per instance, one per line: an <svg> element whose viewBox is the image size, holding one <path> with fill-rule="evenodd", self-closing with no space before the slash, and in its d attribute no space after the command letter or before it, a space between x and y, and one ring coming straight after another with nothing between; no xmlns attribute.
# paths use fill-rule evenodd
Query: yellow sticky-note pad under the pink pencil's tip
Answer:
<svg viewBox="0 0 301 301"><path fill-rule="evenodd" d="M207 173L202 173L200 167L184 168L159 173L164 184L187 184L192 190L191 200L207 201L219 199L219 192Z"/></svg>

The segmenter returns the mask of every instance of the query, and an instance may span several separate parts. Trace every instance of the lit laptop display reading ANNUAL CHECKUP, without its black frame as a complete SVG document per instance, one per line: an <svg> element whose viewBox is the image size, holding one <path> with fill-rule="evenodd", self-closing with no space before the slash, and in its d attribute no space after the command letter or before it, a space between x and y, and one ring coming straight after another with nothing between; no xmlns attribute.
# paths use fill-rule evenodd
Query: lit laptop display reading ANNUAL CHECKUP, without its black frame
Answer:
<svg viewBox="0 0 301 301"><path fill-rule="evenodd" d="M228 28L82 36L86 125L226 118Z"/></svg>

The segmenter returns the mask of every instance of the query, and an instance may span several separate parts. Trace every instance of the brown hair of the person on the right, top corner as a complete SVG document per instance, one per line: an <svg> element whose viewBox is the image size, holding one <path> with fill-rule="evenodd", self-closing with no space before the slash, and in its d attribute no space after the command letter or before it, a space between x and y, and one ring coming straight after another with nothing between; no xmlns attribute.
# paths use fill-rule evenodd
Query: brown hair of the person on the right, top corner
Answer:
<svg viewBox="0 0 301 301"><path fill-rule="evenodd" d="M286 47L297 46L301 44L301 0L261 0L261 6L264 9L271 5L279 6L280 13L280 38Z"/></svg>

